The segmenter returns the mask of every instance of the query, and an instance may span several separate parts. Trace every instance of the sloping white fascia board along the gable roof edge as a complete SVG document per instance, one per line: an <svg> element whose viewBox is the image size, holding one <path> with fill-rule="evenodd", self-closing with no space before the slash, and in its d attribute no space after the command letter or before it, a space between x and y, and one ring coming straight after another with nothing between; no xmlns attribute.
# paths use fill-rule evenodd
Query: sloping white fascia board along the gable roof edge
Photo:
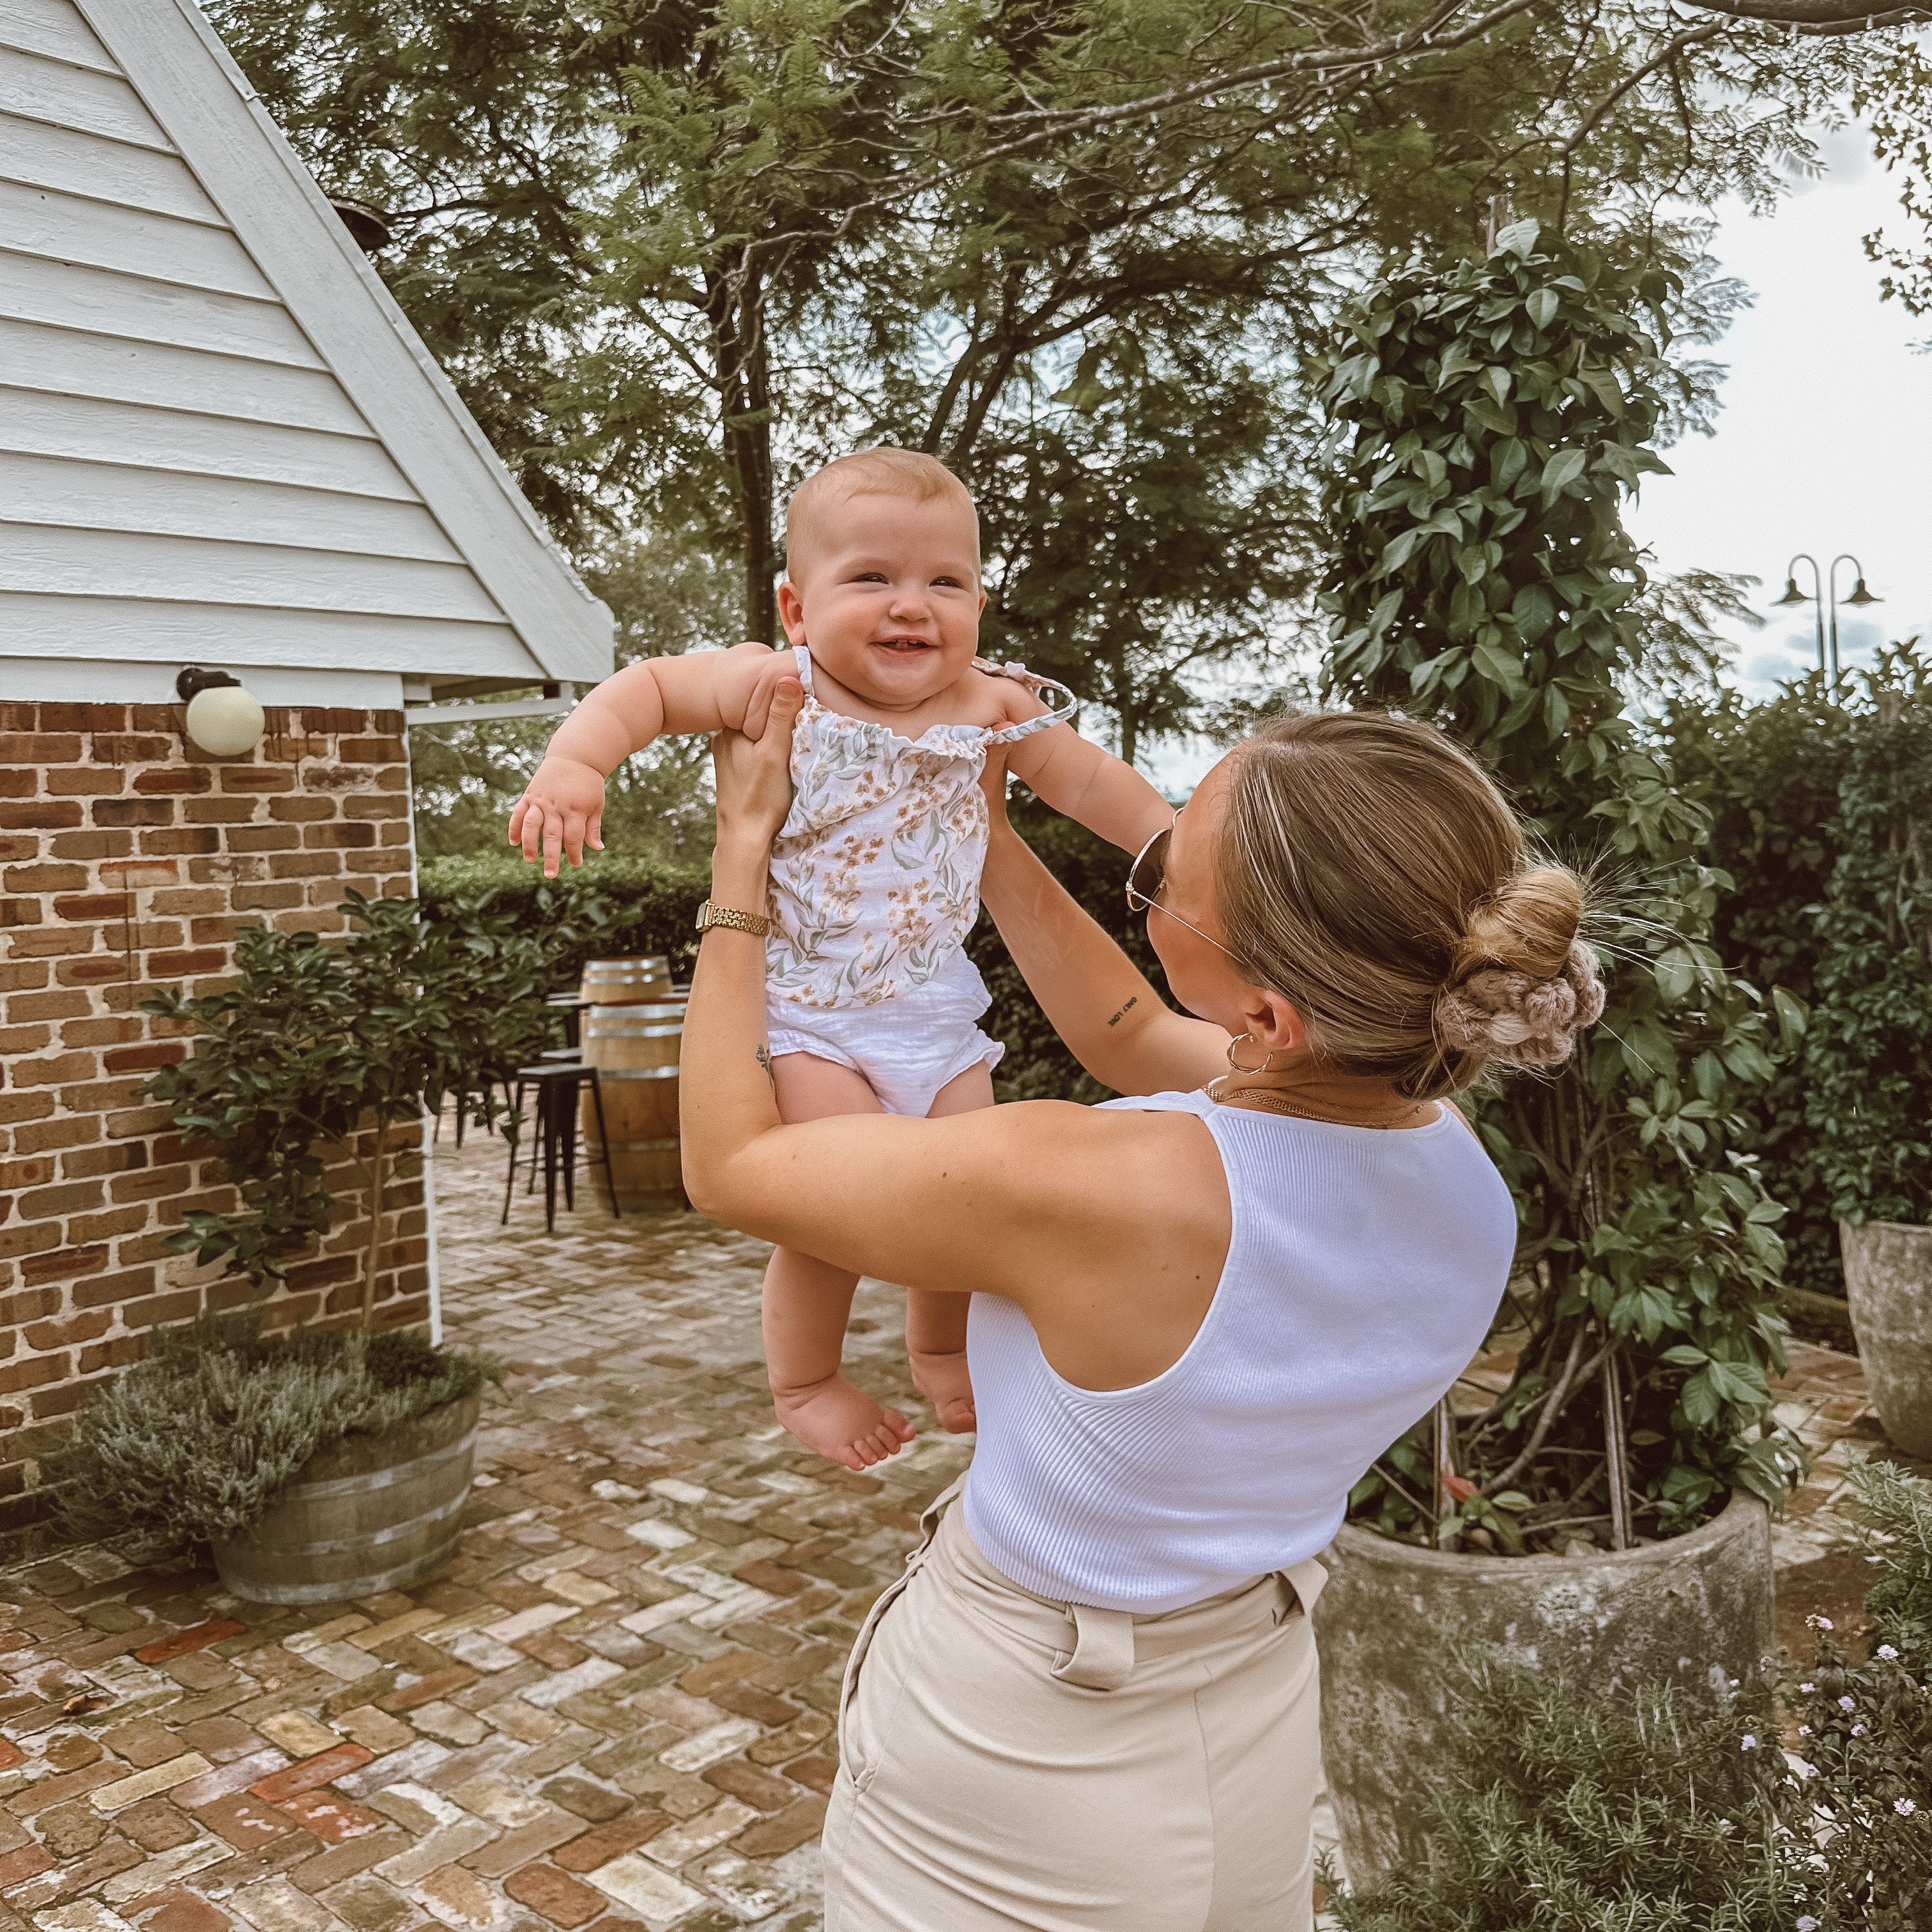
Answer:
<svg viewBox="0 0 1932 1932"><path fill-rule="evenodd" d="M614 668L578 578L193 0L75 0L551 678Z"/></svg>

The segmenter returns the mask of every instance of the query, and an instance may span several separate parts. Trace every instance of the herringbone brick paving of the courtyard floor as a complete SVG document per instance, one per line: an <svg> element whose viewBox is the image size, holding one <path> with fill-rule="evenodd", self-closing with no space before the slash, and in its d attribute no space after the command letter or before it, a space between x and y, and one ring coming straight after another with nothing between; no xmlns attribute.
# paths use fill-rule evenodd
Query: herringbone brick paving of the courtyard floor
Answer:
<svg viewBox="0 0 1932 1932"><path fill-rule="evenodd" d="M866 1287L852 1372L927 1428L867 1476L800 1451L761 1242L587 1194L498 1233L500 1153L437 1159L448 1335L510 1364L448 1567L305 1609L106 1548L0 1578L0 1932L819 1926L846 1648L968 1443ZM1781 1397L1822 1451L1785 1580L1843 1607L1862 1378L1803 1350Z"/></svg>

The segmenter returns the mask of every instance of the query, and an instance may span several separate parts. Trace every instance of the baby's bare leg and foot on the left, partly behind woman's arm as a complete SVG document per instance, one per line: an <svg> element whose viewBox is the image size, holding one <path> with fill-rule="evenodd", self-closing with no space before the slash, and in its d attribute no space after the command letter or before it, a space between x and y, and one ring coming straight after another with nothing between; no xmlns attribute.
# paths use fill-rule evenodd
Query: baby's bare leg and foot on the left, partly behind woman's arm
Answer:
<svg viewBox="0 0 1932 1932"><path fill-rule="evenodd" d="M815 1053L781 1053L771 1078L786 1121L885 1111L864 1074ZM779 1248L765 1269L765 1374L779 1420L808 1449L869 1468L912 1441L912 1424L838 1374L856 1283L842 1267Z"/></svg>

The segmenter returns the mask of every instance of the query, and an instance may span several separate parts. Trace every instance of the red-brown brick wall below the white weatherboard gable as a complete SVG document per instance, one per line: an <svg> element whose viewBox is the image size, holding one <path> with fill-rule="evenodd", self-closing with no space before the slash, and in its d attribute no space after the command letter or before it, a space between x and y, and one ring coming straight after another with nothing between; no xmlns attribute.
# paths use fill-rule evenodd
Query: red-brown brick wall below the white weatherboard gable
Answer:
<svg viewBox="0 0 1932 1932"><path fill-rule="evenodd" d="M141 1099L191 1051L141 1001L216 989L243 925L334 933L344 887L412 891L402 713L276 709L251 753L209 757L184 709L0 703L0 1557L48 1538L39 1457L87 1391L156 1323L253 1296L162 1248L234 1190ZM369 1225L340 1177L338 1225L272 1325L359 1310ZM381 1320L427 1320L415 1157L384 1219Z"/></svg>

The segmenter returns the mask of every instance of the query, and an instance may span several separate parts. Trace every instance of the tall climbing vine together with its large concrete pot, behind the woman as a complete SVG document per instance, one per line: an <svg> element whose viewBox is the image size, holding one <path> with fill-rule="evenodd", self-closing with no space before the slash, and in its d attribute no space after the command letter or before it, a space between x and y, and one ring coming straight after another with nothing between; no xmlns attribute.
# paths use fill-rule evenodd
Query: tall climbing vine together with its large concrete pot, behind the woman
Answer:
<svg viewBox="0 0 1932 1932"><path fill-rule="evenodd" d="M1804 1014L1719 968L1708 817L1627 711L1646 647L1683 643L1621 524L1662 468L1673 292L1520 222L1484 263L1383 276L1323 371L1329 692L1437 719L1555 854L1615 879L1588 1049L1472 1095L1522 1223L1501 1387L1445 1403L1364 1478L1318 1609L1358 1876L1422 1855L1447 1748L1422 1660L1447 1621L1588 1696L1662 1681L1687 1706L1772 1640L1766 1505L1799 1451L1766 1383L1781 1208L1739 1107Z"/></svg>

